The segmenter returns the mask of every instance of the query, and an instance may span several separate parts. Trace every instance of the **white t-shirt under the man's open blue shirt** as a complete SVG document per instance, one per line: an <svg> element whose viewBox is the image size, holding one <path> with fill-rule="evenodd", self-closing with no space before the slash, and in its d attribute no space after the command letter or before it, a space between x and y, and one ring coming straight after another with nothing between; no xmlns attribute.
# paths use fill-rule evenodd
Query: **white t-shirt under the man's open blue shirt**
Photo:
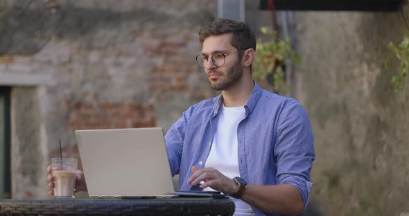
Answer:
<svg viewBox="0 0 409 216"><path fill-rule="evenodd" d="M215 168L226 177L240 177L238 171L238 123L245 118L244 107L225 107L223 105L218 118L216 134L211 143L209 156L204 168ZM209 187L203 190L213 190ZM235 216L255 215L249 204L241 199L234 199Z"/></svg>

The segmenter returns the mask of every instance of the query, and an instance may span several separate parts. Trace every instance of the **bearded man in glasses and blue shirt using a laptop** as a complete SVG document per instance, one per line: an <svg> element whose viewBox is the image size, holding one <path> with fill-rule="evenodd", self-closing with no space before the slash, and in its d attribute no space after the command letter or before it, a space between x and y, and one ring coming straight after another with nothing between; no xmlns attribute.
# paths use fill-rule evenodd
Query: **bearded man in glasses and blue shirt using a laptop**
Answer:
<svg viewBox="0 0 409 216"><path fill-rule="evenodd" d="M184 111L166 133L179 190L220 190L234 197L235 215L301 213L315 159L306 111L254 82L256 39L247 24L216 19L199 35L196 61L222 94ZM82 172L77 186L86 190Z"/></svg>

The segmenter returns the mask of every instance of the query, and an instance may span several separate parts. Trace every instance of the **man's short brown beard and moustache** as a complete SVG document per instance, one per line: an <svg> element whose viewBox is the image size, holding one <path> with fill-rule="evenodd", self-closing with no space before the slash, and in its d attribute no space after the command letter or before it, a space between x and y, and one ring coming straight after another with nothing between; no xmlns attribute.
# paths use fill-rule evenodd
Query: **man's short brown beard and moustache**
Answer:
<svg viewBox="0 0 409 216"><path fill-rule="evenodd" d="M210 78L207 80L211 89L222 91L229 89L229 87L232 87L234 84L236 84L236 82L238 82L238 80L241 79L241 76L243 75L243 68L240 61L237 61L236 64L227 70L227 73L223 73L223 71L211 71L210 73L222 75L220 78L218 78L218 80L211 80Z"/></svg>

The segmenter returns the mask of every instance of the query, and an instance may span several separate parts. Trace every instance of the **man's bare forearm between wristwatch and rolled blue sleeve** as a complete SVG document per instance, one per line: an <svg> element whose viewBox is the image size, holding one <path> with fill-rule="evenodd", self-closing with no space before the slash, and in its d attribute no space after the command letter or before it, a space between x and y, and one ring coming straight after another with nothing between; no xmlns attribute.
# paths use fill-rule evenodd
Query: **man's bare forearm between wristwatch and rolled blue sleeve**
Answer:
<svg viewBox="0 0 409 216"><path fill-rule="evenodd" d="M258 186L249 183L241 199L268 213L299 215L304 210L301 194L289 184Z"/></svg>

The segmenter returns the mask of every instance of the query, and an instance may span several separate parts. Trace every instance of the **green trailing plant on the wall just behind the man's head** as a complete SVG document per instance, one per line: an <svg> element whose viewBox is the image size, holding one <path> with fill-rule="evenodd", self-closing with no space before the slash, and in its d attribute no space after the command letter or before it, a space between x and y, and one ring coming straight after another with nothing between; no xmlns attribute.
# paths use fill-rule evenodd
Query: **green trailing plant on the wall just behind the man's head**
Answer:
<svg viewBox="0 0 409 216"><path fill-rule="evenodd" d="M286 82L284 73L285 60L299 64L301 58L291 48L288 37L281 39L277 31L268 27L261 28L261 34L267 39L257 39L256 59L253 63L253 76L256 79L271 79L272 90L277 93L286 93L290 84Z"/></svg>

